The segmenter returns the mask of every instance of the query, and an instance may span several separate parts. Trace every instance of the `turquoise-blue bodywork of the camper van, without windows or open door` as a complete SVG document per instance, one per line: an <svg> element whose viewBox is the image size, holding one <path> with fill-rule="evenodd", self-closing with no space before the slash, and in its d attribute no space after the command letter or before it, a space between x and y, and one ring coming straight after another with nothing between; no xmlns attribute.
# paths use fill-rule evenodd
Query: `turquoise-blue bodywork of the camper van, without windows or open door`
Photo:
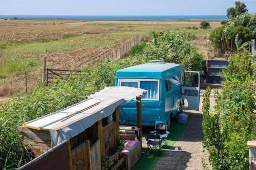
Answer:
<svg viewBox="0 0 256 170"><path fill-rule="evenodd" d="M142 99L141 116L143 126L155 126L156 122L167 124L170 114L175 116L180 109L181 85L170 83L166 91L166 80L180 78L181 65L173 63L147 63L118 70L115 86L121 86L122 81L143 82L143 80L159 81L159 100ZM141 83L136 83L141 84ZM140 87L141 88L141 87ZM136 125L136 101L119 106L121 125Z"/></svg>

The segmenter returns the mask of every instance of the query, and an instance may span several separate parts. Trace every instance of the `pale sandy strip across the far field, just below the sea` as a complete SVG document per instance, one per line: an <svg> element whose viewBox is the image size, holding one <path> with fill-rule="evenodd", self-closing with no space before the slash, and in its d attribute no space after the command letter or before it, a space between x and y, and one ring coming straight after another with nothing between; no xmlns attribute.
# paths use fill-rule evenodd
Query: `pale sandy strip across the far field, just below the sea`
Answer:
<svg viewBox="0 0 256 170"><path fill-rule="evenodd" d="M66 25L83 25L85 23L129 23L129 24L199 24L201 21L134 21L134 20L95 20L64 23ZM220 21L210 21L210 23L220 23Z"/></svg>

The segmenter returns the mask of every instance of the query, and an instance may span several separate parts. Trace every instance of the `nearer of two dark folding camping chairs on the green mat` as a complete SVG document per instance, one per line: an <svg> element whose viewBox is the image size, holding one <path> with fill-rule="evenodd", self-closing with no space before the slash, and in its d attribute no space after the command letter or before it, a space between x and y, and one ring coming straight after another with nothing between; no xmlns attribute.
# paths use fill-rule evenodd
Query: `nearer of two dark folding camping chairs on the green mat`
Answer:
<svg viewBox="0 0 256 170"><path fill-rule="evenodd" d="M146 149L147 153L151 153L153 150L159 148L159 154L161 152L161 144L163 139L161 139L159 134L146 134Z"/></svg>

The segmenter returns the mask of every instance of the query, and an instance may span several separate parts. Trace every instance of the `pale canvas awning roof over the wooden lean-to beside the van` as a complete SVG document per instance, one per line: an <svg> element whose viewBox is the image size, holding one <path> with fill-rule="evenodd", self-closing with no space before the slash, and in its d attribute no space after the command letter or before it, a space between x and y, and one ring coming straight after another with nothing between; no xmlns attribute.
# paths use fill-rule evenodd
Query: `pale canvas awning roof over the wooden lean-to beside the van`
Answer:
<svg viewBox="0 0 256 170"><path fill-rule="evenodd" d="M111 115L117 106L136 99L146 90L133 87L105 87L87 100L23 124L27 128L49 130L52 147Z"/></svg>

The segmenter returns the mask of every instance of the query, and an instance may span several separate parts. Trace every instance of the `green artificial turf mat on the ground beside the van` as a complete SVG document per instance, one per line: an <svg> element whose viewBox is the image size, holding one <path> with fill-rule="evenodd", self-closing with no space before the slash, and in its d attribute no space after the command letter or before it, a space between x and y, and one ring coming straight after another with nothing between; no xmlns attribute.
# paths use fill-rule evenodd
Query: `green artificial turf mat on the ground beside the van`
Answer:
<svg viewBox="0 0 256 170"><path fill-rule="evenodd" d="M156 155L158 151L156 151L155 154L146 154L146 148L142 148L142 154L140 160L134 165L132 170L139 170L139 169L153 169L155 164L161 159L161 157L164 155L166 151L170 149L170 147L179 140L180 136L185 131L187 125L174 123L172 125L172 128L170 129L170 134L167 138L167 147L165 149L162 149L162 152L159 156Z"/></svg>

